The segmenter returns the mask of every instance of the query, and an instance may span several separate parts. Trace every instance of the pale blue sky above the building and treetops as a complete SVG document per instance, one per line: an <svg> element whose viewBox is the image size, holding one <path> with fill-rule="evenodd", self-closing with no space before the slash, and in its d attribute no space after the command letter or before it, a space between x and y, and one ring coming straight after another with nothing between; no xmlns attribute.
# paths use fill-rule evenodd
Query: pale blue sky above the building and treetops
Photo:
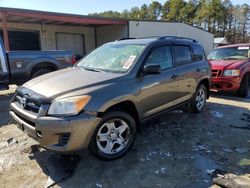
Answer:
<svg viewBox="0 0 250 188"><path fill-rule="evenodd" d="M158 0L164 3L165 0ZM122 11L133 6L140 7L149 0L0 0L0 7L34 9L52 12L83 14L105 10ZM231 0L233 4L250 3L250 0Z"/></svg>

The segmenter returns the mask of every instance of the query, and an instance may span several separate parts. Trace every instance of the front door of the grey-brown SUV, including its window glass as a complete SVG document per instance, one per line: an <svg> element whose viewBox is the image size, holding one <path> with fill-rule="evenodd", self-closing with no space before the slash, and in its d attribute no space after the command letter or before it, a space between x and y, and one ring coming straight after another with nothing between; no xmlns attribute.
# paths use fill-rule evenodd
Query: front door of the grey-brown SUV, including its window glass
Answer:
<svg viewBox="0 0 250 188"><path fill-rule="evenodd" d="M171 47L156 47L150 52L146 64L159 64L162 71L160 74L144 75L139 80L144 118L175 105L178 99L178 81Z"/></svg>

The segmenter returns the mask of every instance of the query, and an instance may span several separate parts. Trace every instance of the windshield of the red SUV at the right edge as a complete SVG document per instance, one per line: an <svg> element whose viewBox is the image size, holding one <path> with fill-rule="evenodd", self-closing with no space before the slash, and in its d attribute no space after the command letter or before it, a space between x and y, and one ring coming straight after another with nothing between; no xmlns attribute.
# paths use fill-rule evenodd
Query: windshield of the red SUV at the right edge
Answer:
<svg viewBox="0 0 250 188"><path fill-rule="evenodd" d="M218 48L208 55L208 60L247 59L250 56L249 47Z"/></svg>

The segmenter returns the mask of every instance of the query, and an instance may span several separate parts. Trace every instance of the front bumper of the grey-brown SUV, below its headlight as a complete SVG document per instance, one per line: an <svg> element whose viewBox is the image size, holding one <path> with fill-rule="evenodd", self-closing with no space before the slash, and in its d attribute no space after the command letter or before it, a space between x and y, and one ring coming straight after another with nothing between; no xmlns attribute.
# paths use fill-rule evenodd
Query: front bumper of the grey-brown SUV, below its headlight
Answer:
<svg viewBox="0 0 250 188"><path fill-rule="evenodd" d="M19 107L10 105L11 120L18 128L34 138L41 146L59 152L84 149L100 118L81 114L75 117L39 116Z"/></svg>

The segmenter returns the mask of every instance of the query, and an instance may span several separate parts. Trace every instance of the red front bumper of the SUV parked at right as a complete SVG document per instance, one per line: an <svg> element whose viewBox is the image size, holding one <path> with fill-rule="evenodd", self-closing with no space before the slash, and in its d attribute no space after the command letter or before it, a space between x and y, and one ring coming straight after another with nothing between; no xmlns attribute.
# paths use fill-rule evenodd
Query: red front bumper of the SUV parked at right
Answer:
<svg viewBox="0 0 250 188"><path fill-rule="evenodd" d="M222 91L237 91L240 88L240 83L240 77L213 77L211 89Z"/></svg>

